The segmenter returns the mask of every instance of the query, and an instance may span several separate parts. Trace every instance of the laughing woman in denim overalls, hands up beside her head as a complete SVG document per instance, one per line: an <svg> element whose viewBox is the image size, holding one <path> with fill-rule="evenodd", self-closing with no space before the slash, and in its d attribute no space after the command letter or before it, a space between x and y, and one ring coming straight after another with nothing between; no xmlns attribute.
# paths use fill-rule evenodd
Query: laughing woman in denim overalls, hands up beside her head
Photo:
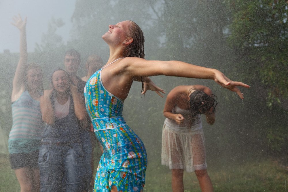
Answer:
<svg viewBox="0 0 288 192"><path fill-rule="evenodd" d="M52 86L40 98L47 123L39 150L40 191L84 191L85 153L80 135L88 122L83 97L64 70L53 73Z"/></svg>

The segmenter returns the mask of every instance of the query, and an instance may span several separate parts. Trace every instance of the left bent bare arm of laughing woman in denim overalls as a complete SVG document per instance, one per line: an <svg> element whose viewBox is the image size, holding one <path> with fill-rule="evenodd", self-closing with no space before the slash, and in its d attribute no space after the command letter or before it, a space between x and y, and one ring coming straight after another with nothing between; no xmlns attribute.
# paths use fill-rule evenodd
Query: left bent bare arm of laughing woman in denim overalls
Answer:
<svg viewBox="0 0 288 192"><path fill-rule="evenodd" d="M55 121L54 109L51 103L51 94L53 89L44 90L43 95L40 97L40 109L42 113L42 119L47 124L51 125Z"/></svg>

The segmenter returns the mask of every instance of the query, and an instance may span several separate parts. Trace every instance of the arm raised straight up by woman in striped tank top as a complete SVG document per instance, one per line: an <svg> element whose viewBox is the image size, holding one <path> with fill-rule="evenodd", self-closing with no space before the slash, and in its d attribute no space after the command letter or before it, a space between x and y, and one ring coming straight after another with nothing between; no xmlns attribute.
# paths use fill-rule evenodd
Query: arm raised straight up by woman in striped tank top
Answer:
<svg viewBox="0 0 288 192"><path fill-rule="evenodd" d="M25 78L25 69L27 66L27 42L26 42L26 20L22 20L21 16L14 16L14 22L12 23L20 31L20 59L16 68L16 72L13 79L13 89L11 95L11 101L16 101L20 95L25 90L24 78Z"/></svg>

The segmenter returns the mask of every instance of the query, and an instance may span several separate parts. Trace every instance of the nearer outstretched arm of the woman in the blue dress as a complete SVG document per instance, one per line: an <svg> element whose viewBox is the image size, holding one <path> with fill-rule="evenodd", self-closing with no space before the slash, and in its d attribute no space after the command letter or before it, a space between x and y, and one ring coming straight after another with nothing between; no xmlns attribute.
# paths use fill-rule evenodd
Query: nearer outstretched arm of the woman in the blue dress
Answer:
<svg viewBox="0 0 288 192"><path fill-rule="evenodd" d="M241 99L244 97L237 86L245 88L250 87L242 82L231 81L216 69L192 65L181 61L149 61L133 57L125 58L121 62L126 65L124 67L124 73L127 72L127 74L132 76L166 75L198 79L213 79L222 87L236 92Z"/></svg>

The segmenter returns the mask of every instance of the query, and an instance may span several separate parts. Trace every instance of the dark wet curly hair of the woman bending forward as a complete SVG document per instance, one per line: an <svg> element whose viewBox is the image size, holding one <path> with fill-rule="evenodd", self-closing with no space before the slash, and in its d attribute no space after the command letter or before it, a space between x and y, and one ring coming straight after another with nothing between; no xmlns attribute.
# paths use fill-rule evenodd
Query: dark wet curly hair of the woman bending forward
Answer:
<svg viewBox="0 0 288 192"><path fill-rule="evenodd" d="M189 111L192 115L204 114L212 107L213 113L215 113L218 104L216 99L217 96L214 94L207 95L201 90L195 90L189 96Z"/></svg>

